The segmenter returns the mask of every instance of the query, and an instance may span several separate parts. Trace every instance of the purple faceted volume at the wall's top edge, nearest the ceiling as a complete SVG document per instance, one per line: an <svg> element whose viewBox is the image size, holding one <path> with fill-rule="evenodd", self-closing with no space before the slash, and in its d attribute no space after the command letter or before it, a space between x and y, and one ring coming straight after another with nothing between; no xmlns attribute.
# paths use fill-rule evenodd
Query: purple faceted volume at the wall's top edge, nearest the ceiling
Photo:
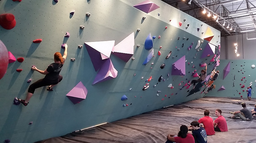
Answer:
<svg viewBox="0 0 256 143"><path fill-rule="evenodd" d="M156 5L155 3L153 3L149 0L143 1L142 3L138 3L137 5L134 5L133 7L137 8L143 12L146 12L146 13L149 13L153 10L156 10L157 8L160 8L158 5Z"/></svg>

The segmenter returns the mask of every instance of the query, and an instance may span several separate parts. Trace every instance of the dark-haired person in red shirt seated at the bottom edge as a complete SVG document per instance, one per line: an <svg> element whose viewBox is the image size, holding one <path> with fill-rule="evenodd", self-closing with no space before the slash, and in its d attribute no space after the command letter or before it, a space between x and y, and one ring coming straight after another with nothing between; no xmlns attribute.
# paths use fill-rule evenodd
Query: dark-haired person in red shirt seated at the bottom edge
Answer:
<svg viewBox="0 0 256 143"><path fill-rule="evenodd" d="M179 143L195 143L195 139L191 134L188 134L188 128L186 125L180 126L178 136L169 134L165 143L179 142Z"/></svg>

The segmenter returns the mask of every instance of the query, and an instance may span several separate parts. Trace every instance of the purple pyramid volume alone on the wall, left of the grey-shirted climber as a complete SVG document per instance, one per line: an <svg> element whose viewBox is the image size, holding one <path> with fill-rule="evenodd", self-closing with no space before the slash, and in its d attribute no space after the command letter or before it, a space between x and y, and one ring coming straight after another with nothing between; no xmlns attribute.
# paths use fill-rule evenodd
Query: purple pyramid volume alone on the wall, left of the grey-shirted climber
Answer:
<svg viewBox="0 0 256 143"><path fill-rule="evenodd" d="M172 64L172 75L186 75L185 55Z"/></svg>

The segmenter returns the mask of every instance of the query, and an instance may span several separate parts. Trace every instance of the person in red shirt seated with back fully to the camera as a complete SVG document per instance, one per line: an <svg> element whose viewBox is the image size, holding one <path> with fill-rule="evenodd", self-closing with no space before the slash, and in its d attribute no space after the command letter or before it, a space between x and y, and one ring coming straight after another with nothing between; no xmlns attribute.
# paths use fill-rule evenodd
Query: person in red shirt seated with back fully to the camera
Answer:
<svg viewBox="0 0 256 143"><path fill-rule="evenodd" d="M204 125L203 127L206 130L207 136L215 134L213 119L209 116L209 114L210 114L210 111L206 109L204 112L205 116L198 120L199 123L203 123L203 125Z"/></svg>

